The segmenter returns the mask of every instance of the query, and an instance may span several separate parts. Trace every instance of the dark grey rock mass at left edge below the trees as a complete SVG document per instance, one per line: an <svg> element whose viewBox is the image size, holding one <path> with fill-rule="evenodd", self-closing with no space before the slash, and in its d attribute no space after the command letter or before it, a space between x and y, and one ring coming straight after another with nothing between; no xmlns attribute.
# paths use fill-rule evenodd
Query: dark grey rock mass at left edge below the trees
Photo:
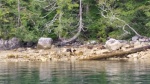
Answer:
<svg viewBox="0 0 150 84"><path fill-rule="evenodd" d="M20 41L18 38L12 38L9 40L0 39L0 50L9 50L20 47Z"/></svg>

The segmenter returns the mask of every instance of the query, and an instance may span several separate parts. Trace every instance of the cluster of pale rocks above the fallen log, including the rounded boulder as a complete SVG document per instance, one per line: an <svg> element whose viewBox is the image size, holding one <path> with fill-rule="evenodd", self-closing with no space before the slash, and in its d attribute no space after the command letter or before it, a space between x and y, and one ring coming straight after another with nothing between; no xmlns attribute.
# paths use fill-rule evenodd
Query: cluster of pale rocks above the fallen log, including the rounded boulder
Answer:
<svg viewBox="0 0 150 84"><path fill-rule="evenodd" d="M116 40L114 38L110 38L105 43L105 47L110 51L111 50L127 51L128 49L140 48L148 45L150 45L150 38L139 36L133 36L131 41Z"/></svg>

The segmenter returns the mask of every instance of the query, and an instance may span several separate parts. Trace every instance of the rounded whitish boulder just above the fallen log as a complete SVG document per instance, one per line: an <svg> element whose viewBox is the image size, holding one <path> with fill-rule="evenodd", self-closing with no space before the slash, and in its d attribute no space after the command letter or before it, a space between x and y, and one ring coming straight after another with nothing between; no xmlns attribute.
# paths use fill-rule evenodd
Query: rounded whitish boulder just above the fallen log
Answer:
<svg viewBox="0 0 150 84"><path fill-rule="evenodd" d="M106 41L105 47L109 50L118 50L122 47L123 43L121 43L119 40L110 38Z"/></svg>

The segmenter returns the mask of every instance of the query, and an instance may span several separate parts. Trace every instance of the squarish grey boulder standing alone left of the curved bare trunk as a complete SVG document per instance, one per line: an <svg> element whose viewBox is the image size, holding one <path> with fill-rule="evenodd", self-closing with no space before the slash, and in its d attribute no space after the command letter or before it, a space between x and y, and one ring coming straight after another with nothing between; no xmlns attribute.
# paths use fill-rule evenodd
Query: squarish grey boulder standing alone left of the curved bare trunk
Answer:
<svg viewBox="0 0 150 84"><path fill-rule="evenodd" d="M38 49L50 49L52 46L52 42L53 42L52 38L41 37L38 40L37 48Z"/></svg>

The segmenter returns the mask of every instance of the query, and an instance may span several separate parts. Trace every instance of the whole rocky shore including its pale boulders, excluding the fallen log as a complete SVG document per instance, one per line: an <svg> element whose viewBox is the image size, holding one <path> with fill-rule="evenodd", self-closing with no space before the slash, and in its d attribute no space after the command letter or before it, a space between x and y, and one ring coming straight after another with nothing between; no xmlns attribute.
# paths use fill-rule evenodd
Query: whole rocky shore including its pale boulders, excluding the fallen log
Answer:
<svg viewBox="0 0 150 84"><path fill-rule="evenodd" d="M9 42L9 44L12 41ZM7 43L8 44L8 43ZM16 45L16 44L15 44ZM14 45L13 45L14 46ZM107 53L126 52L133 49L141 48L143 46L150 46L149 38L133 37L132 41L116 40L110 38L105 45L91 42L84 45L66 45L54 46L52 39L42 38L38 42L36 48L16 48L11 50L0 51L0 61L7 62L22 62L22 61L78 61L88 59L92 56L107 56ZM109 57L107 60L148 60L150 59L150 49L144 49L121 57ZM105 59L106 60L106 59Z"/></svg>

